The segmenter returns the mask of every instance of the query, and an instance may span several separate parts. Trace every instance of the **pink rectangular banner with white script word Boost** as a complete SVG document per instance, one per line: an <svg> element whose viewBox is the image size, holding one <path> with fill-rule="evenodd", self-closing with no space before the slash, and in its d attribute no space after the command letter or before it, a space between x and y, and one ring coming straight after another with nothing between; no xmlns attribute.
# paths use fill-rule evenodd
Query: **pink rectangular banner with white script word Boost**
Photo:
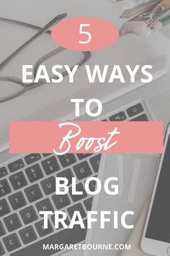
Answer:
<svg viewBox="0 0 170 256"><path fill-rule="evenodd" d="M12 121L10 153L162 153L161 121Z"/></svg>

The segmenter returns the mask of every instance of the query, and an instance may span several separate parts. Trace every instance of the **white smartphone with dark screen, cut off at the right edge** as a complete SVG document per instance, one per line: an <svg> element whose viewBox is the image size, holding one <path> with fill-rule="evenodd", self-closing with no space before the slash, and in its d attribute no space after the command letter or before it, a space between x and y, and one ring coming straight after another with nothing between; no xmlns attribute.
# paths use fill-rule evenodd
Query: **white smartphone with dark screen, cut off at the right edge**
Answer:
<svg viewBox="0 0 170 256"><path fill-rule="evenodd" d="M170 255L170 124L166 130L164 152L158 164L141 249L148 255Z"/></svg>

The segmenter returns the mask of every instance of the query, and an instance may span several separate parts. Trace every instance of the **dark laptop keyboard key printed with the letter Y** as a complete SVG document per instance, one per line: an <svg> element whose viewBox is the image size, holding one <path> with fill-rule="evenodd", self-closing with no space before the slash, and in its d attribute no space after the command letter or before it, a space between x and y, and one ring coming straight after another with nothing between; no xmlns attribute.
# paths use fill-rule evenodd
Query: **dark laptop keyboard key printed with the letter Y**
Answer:
<svg viewBox="0 0 170 256"><path fill-rule="evenodd" d="M42 192L40 191L40 187L38 187L37 184L31 187L27 187L27 189L24 189L24 192L29 202L35 202L42 197Z"/></svg>

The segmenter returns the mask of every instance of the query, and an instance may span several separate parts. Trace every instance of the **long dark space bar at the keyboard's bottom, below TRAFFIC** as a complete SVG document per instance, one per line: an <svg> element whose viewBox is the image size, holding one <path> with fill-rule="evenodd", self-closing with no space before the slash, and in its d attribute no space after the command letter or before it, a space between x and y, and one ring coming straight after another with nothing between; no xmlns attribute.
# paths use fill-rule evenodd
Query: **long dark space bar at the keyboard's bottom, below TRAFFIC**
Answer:
<svg viewBox="0 0 170 256"><path fill-rule="evenodd" d="M84 221L86 227L86 221ZM23 256L23 255L41 255L47 256L47 250L43 249L43 244L79 244L86 239L86 229L81 229L79 225L73 226L73 229L63 229L62 231L55 233L51 236L45 237L35 244L31 244L29 247L12 253L11 256ZM62 249L50 249L50 255L61 252Z"/></svg>

